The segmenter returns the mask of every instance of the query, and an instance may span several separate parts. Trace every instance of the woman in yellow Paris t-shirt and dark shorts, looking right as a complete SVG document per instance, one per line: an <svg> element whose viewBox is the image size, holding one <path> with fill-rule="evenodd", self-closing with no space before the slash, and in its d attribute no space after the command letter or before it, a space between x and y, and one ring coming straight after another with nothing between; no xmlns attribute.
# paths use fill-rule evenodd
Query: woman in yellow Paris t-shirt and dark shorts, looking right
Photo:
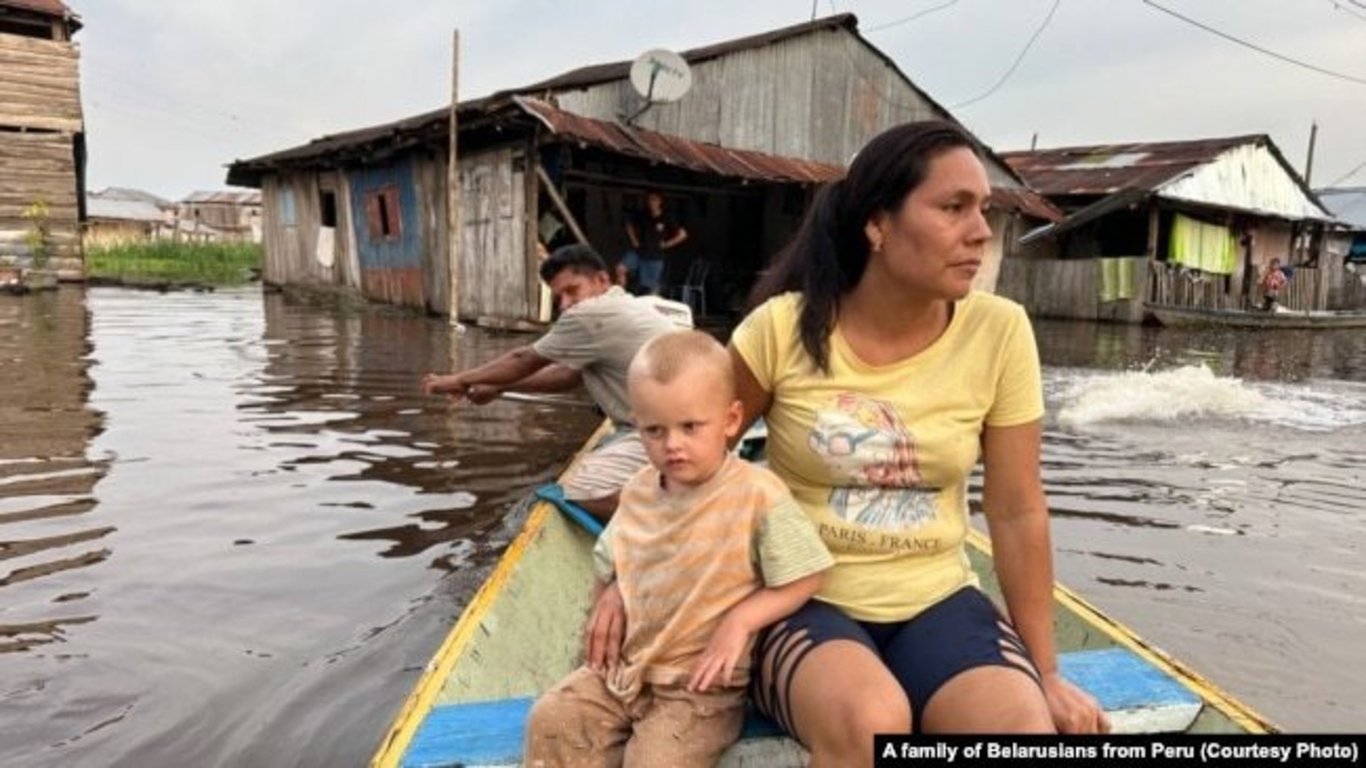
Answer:
<svg viewBox="0 0 1366 768"><path fill-rule="evenodd" d="M876 137L817 195L731 346L746 418L835 555L817 599L761 638L754 697L811 765L873 761L878 732L1097 732L1057 671L1024 312L971 291L990 186L960 128ZM1007 622L967 562L981 456ZM611 653L612 609L590 620Z"/></svg>

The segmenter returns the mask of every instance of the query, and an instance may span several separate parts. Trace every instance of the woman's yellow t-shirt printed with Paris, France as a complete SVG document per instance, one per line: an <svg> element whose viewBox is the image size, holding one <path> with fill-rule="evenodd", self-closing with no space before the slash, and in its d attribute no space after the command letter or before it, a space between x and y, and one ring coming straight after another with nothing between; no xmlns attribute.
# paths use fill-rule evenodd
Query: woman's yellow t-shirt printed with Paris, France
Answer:
<svg viewBox="0 0 1366 768"><path fill-rule="evenodd" d="M861 361L836 327L826 374L802 348L800 301L769 299L731 338L773 396L769 467L835 555L817 597L859 620L904 620L977 584L967 477L984 425L1044 415L1034 333L1018 303L971 292L933 344L891 365Z"/></svg>

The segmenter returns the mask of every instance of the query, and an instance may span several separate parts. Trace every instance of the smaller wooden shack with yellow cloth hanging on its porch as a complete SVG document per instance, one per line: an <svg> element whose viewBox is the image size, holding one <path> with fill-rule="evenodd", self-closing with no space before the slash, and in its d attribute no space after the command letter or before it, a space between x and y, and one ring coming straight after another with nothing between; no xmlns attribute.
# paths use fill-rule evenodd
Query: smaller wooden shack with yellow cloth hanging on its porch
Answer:
<svg viewBox="0 0 1366 768"><path fill-rule="evenodd" d="M1000 292L1048 317L1139 323L1145 305L1247 309L1273 258L1281 303L1332 306L1333 227L1266 135L1007 152L1067 219L1026 234Z"/></svg>

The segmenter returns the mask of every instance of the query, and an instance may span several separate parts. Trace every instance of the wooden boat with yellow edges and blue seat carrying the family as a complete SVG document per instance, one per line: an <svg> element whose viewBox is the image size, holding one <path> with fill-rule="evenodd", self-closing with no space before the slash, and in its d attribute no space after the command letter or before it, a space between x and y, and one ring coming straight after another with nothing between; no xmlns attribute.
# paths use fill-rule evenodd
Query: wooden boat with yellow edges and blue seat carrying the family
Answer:
<svg viewBox="0 0 1366 768"><path fill-rule="evenodd" d="M753 458L764 435L746 437L740 455ZM538 491L520 532L403 702L372 767L519 764L531 702L579 663L591 530L601 527L555 489ZM982 588L999 599L989 541L974 530L968 544ZM1063 672L1101 701L1115 732L1276 732L1265 717L1072 590L1056 585L1053 597ZM805 764L799 745L757 717L721 763Z"/></svg>

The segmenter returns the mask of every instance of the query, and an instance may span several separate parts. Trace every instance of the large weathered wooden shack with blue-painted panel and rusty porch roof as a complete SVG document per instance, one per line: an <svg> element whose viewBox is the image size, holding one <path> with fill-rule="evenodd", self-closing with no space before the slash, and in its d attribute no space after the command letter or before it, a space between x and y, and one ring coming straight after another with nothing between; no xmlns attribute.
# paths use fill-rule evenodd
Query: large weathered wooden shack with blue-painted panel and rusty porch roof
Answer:
<svg viewBox="0 0 1366 768"><path fill-rule="evenodd" d="M953 119L850 14L680 55L691 90L643 112L630 61L462 101L454 280L448 108L232 164L228 183L262 190L265 279L455 307L466 320L545 321L537 239L576 227L613 260L626 250L624 216L656 190L691 235L665 282L701 260L703 309L729 312L791 236L814 186L839 178L869 138L907 120ZM982 149L996 236L978 280L990 290L1007 243L1061 215Z"/></svg>

